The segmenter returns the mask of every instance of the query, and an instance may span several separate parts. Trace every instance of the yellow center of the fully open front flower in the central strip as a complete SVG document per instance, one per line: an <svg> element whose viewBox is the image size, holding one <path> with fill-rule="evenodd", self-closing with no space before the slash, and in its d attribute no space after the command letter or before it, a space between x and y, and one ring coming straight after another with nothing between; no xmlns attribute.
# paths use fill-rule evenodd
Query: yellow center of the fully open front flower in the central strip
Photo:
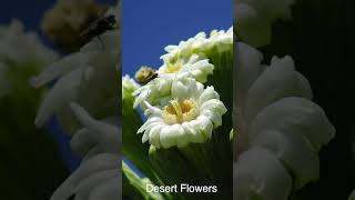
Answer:
<svg viewBox="0 0 355 200"><path fill-rule="evenodd" d="M197 116L196 102L193 99L179 101L173 99L169 106L163 109L163 119L169 124L183 123L191 121Z"/></svg>

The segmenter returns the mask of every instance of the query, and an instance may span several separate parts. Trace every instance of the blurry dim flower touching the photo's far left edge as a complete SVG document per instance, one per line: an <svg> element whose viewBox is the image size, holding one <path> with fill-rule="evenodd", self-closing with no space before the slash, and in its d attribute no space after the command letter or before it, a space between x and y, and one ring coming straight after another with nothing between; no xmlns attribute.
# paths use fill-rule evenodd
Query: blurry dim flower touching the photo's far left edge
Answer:
<svg viewBox="0 0 355 200"><path fill-rule="evenodd" d="M0 98L57 58L58 54L45 48L34 32L24 32L20 21L0 26Z"/></svg>

